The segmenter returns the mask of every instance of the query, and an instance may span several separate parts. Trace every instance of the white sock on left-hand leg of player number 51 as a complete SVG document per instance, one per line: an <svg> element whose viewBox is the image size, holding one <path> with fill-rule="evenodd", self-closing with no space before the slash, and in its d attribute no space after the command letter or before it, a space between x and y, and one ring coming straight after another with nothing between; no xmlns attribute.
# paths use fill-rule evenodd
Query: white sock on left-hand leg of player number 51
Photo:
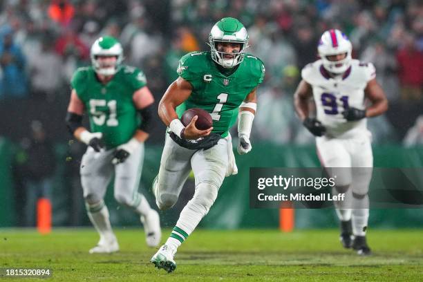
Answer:
<svg viewBox="0 0 423 282"><path fill-rule="evenodd" d="M101 200L94 205L86 203L86 209L88 218L90 218L91 223L93 223L95 229L97 229L97 232L100 234L100 241L115 240L116 237L115 234L113 234L109 220L109 209L104 205L104 201Z"/></svg>

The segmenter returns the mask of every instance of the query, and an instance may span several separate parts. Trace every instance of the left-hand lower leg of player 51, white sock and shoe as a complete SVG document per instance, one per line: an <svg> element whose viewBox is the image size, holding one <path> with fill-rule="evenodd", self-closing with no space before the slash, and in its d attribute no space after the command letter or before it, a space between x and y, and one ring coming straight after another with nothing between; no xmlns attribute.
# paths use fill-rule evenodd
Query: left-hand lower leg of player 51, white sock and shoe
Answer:
<svg viewBox="0 0 423 282"><path fill-rule="evenodd" d="M86 203L88 218L93 223L95 229L100 234L100 241L91 250L90 254L110 254L119 251L118 240L110 225L109 209L104 205L104 201L99 203L88 204Z"/></svg>

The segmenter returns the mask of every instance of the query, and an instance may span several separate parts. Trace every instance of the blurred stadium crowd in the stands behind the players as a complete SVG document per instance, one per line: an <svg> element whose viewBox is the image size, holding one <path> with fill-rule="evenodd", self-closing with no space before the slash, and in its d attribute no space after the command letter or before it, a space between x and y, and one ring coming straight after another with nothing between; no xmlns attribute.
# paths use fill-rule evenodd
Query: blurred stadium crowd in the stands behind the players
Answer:
<svg viewBox="0 0 423 282"><path fill-rule="evenodd" d="M50 138L66 140L69 81L78 66L91 64L89 48L101 35L120 39L125 64L146 73L160 100L177 77L178 59L208 50L210 28L228 16L247 26L249 53L266 66L254 140L314 142L294 115L292 94L301 68L317 59L319 35L339 28L353 42L353 57L375 64L391 103L386 116L369 122L373 141L423 142L417 119L423 109L423 4L413 0L5 0L0 135L19 140L32 120L41 120ZM163 139L157 125L152 142Z"/></svg>

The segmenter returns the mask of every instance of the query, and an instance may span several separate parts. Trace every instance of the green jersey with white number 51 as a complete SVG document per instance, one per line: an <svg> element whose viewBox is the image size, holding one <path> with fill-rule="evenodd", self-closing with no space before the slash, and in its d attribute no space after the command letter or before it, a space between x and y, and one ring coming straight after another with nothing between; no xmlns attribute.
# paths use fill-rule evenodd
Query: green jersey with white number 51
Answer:
<svg viewBox="0 0 423 282"><path fill-rule="evenodd" d="M85 105L92 132L103 133L107 149L128 142L140 124L133 93L147 84L138 68L122 66L102 84L93 67L78 68L71 85Z"/></svg>

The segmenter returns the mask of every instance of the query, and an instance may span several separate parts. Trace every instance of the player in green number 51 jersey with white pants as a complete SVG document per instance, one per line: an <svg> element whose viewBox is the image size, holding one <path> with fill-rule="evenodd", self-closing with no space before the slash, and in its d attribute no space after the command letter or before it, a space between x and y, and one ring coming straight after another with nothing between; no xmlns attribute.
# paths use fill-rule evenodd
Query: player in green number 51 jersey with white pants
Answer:
<svg viewBox="0 0 423 282"><path fill-rule="evenodd" d="M144 74L123 66L122 57L116 39L100 37L91 47L93 66L78 68L71 82L66 124L77 140L88 145L81 162L81 182L88 217L100 234L91 254L119 250L103 200L113 171L115 199L140 215L147 245L155 247L161 237L158 212L138 193L154 99ZM82 126L84 111L91 132Z"/></svg>

